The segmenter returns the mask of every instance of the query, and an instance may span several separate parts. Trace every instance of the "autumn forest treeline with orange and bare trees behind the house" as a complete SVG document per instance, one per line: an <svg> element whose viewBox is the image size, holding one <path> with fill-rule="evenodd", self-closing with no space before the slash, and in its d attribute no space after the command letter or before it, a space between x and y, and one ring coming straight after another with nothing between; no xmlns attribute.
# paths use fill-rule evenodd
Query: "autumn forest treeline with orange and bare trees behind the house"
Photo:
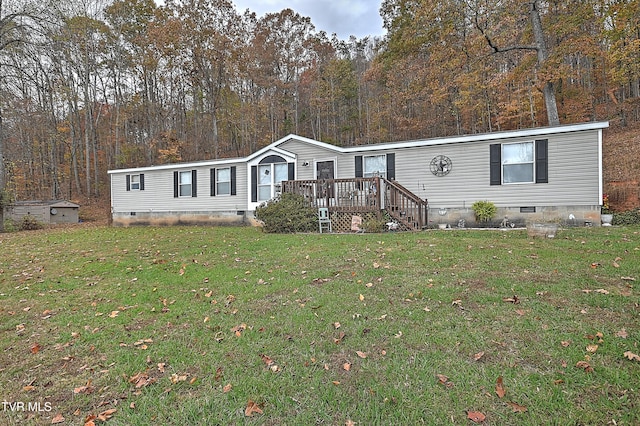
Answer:
<svg viewBox="0 0 640 426"><path fill-rule="evenodd" d="M4 199L108 195L106 171L640 121L638 0L384 0L340 40L228 0L0 0ZM555 111L554 111L555 109Z"/></svg>

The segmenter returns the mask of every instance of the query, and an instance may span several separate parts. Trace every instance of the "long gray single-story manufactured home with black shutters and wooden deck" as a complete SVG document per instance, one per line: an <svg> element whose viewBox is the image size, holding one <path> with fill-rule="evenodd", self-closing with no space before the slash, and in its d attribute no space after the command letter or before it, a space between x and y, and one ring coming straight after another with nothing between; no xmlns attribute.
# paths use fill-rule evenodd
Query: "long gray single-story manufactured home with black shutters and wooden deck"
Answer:
<svg viewBox="0 0 640 426"><path fill-rule="evenodd" d="M261 203L295 192L327 208L334 231L349 230L354 215L400 229L474 226L476 201L498 207L496 226L599 225L607 127L352 147L289 135L243 158L110 170L112 219L115 226L252 224Z"/></svg>

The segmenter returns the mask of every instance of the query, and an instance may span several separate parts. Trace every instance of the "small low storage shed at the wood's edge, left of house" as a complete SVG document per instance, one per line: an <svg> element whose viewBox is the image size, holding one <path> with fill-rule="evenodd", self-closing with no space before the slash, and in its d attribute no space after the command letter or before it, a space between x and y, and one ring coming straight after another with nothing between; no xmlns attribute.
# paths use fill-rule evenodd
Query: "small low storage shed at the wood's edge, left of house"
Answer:
<svg viewBox="0 0 640 426"><path fill-rule="evenodd" d="M22 221L27 215L35 217L44 224L78 223L79 204L66 200L30 200L16 201L5 208L5 219Z"/></svg>

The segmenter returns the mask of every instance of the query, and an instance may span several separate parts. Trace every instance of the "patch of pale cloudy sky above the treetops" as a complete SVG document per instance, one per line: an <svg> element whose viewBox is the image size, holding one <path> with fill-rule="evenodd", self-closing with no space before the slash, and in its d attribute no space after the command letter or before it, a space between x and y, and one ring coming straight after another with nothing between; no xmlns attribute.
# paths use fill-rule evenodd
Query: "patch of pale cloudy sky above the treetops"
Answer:
<svg viewBox="0 0 640 426"><path fill-rule="evenodd" d="M341 40L384 34L380 17L381 0L231 0L238 12L249 9L258 17L292 9L311 18L317 31L333 33Z"/></svg>

